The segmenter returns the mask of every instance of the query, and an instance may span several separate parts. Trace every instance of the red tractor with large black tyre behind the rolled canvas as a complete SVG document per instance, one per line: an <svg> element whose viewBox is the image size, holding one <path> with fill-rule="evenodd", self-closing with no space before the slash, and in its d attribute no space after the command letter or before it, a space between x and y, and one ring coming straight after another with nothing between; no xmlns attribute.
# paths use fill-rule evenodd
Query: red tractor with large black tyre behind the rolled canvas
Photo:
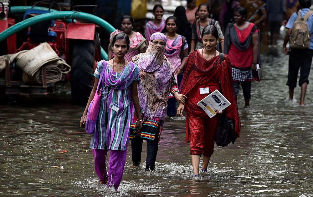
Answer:
<svg viewBox="0 0 313 197"><path fill-rule="evenodd" d="M36 9L36 6L39 4L47 2L51 3L48 10ZM61 7L52 1L35 3L31 9L25 12L23 20L36 15L50 13L50 9L53 6L61 11ZM88 7L92 6L88 5ZM2 23L5 23L6 26ZM10 25L14 25L14 19L0 20L0 32ZM7 52L16 53L22 50L30 50L43 42L49 43L59 57L63 58L71 66L71 72L65 76L65 79L71 82L72 103L85 105L93 87L93 73L96 61L100 60L99 33L99 26L93 23L75 20L70 20L70 23L64 20L42 21L28 28L27 40L15 51L13 51L14 46L11 45L16 44L16 37L11 36L7 38ZM14 66L10 68L11 79L16 80L19 78L19 76L12 76L12 73L21 73L18 69L18 67ZM28 84L23 84L23 82L15 83L18 87L12 87L12 84L8 86L8 83L6 83L6 94L47 94L55 89L55 83L46 84L46 91L40 89L38 92L36 92L36 87L30 90L31 87ZM45 84L38 84L38 86L43 87Z"/></svg>

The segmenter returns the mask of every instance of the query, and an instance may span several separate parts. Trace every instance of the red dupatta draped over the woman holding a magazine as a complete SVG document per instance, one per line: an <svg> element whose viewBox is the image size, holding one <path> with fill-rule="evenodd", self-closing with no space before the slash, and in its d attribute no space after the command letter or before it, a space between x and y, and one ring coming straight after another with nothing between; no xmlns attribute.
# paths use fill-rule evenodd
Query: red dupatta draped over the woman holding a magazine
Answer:
<svg viewBox="0 0 313 197"><path fill-rule="evenodd" d="M222 93L231 103L231 105L226 109L226 116L227 118L234 120L235 133L239 136L241 125L237 108L237 100L233 90L231 63L227 55L224 57L224 61L220 64L219 56L206 60L198 50L192 51L186 60L181 94L188 95L192 88L194 88L197 84L208 83L213 79L213 77L219 75ZM203 109L197 107L197 102L199 101L187 99L185 102L185 108L187 111L192 112L192 115L200 117L208 116ZM186 117L186 141L189 142L190 131L187 119L188 113Z"/></svg>

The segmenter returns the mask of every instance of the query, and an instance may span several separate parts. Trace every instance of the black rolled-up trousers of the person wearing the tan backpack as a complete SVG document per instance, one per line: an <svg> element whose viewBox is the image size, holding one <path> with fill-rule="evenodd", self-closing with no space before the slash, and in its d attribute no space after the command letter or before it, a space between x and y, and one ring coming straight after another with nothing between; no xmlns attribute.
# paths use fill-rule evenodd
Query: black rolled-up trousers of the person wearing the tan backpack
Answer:
<svg viewBox="0 0 313 197"><path fill-rule="evenodd" d="M286 85L290 88L297 86L298 72L300 68L299 86L303 83L309 84L309 74L312 63L312 49L291 49L289 53L288 81Z"/></svg>

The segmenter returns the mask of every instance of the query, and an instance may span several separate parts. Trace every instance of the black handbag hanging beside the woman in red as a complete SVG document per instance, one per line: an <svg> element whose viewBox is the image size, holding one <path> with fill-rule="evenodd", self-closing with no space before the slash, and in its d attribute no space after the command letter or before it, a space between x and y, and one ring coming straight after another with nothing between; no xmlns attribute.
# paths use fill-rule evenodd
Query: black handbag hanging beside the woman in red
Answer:
<svg viewBox="0 0 313 197"><path fill-rule="evenodd" d="M235 122L233 119L227 119L226 113L220 115L218 128L214 135L215 143L218 146L227 146L235 142L237 134L235 133Z"/></svg>

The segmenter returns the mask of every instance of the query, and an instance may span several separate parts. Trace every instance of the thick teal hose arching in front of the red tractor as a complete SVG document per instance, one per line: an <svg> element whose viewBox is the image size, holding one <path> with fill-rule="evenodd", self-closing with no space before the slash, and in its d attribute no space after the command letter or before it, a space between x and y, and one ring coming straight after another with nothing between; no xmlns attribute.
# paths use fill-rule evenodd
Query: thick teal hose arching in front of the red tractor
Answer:
<svg viewBox="0 0 313 197"><path fill-rule="evenodd" d="M12 7L13 8L13 7ZM11 8L11 9L12 9ZM4 30L0 33L0 42L7 39L8 37L12 36L14 33L19 32L20 30L24 28L28 28L29 26L32 26L36 23L40 23L42 21L50 21L50 20L56 20L56 19L78 19L78 20L84 20L88 21L90 23L94 23L96 25L99 25L101 28L105 29L108 33L112 33L115 31L115 28L110 25L110 23L106 22L102 18L99 18L95 15L84 13L84 12L76 12L76 11L60 11L60 12L51 12L46 14L40 14L38 16L34 16L31 18L28 18L26 20L23 20L10 28ZM108 54L105 52L105 50L101 47L101 57L105 60L108 59Z"/></svg>

